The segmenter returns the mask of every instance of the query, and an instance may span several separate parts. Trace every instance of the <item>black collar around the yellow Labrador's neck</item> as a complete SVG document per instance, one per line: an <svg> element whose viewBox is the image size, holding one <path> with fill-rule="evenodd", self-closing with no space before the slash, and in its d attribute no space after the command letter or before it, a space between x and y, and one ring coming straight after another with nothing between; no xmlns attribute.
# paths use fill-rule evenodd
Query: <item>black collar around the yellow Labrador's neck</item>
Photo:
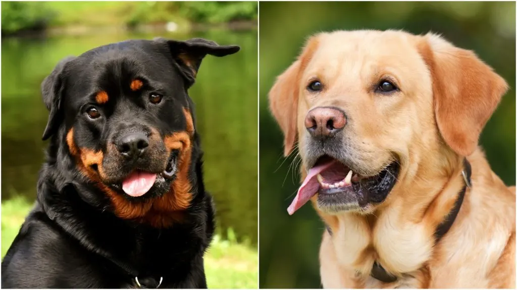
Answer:
<svg viewBox="0 0 517 290"><path fill-rule="evenodd" d="M463 175L463 179L465 180L465 185L461 189L458 194L458 198L456 202L454 202L454 206L449 214L445 217L444 221L438 225L436 231L434 232L434 243L438 243L438 241L449 231L452 227L452 223L458 216L460 212L461 205L463 203L463 198L465 197L465 191L467 191L467 187L471 187L472 183L470 181L470 175L472 175L472 168L470 168L470 163L468 163L467 159L463 159L463 171L461 172ZM397 281L397 277L390 275L383 266L377 261L373 263L372 271L370 272L370 276L373 278L385 282L391 283Z"/></svg>

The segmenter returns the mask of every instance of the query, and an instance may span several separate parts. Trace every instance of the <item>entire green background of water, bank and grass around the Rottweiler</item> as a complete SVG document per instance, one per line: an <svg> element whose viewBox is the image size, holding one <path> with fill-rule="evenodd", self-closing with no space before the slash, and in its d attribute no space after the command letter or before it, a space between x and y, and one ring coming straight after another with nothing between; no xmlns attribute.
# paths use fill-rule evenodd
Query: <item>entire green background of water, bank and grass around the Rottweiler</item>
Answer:
<svg viewBox="0 0 517 290"><path fill-rule="evenodd" d="M217 237L205 260L208 286L256 288L256 16L257 3L242 2L2 3L2 35L9 35L2 38L2 256L36 196L47 146L40 84L56 63L126 39L203 37L241 46L235 55L207 56L189 91L205 185L217 207Z"/></svg>

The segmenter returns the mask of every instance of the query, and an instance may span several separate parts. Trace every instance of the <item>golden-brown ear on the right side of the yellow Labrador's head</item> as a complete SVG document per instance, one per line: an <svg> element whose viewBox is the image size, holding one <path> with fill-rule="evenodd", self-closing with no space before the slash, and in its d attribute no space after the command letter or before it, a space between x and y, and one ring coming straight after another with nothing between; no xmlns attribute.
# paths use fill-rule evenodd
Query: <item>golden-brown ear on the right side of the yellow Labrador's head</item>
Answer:
<svg viewBox="0 0 517 290"><path fill-rule="evenodd" d="M419 51L433 79L438 130L454 152L468 156L508 85L474 52L437 35L425 35Z"/></svg>

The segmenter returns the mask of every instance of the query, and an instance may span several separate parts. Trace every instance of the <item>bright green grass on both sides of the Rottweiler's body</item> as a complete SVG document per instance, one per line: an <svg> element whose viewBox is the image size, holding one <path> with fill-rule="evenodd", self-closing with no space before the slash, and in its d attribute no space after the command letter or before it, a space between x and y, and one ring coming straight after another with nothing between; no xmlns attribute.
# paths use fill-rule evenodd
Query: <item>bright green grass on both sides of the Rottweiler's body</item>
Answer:
<svg viewBox="0 0 517 290"><path fill-rule="evenodd" d="M2 257L18 234L32 204L21 197L2 202ZM209 288L257 288L257 251L236 242L229 231L223 240L216 235L205 255L205 271Z"/></svg>

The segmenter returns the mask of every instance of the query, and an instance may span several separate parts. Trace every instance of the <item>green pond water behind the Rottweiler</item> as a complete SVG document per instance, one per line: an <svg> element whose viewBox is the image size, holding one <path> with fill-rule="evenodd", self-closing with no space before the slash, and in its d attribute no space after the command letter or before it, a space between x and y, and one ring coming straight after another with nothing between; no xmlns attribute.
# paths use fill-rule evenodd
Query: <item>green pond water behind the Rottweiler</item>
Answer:
<svg viewBox="0 0 517 290"><path fill-rule="evenodd" d="M36 196L48 111L40 84L56 63L93 47L131 39L203 37L238 44L235 55L206 57L189 94L205 151L205 183L216 199L220 229L257 240L257 31L192 35L95 35L2 39L2 200ZM225 231L224 231L225 232Z"/></svg>

